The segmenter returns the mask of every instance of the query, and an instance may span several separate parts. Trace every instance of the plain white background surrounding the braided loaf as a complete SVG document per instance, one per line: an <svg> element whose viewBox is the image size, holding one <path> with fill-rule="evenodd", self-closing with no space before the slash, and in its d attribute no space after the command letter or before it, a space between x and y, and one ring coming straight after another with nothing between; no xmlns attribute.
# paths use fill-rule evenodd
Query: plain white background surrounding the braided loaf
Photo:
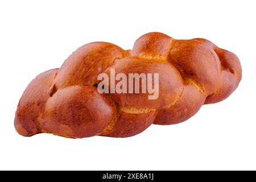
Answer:
<svg viewBox="0 0 256 182"><path fill-rule="evenodd" d="M0 169L256 169L255 1L1 1ZM151 31L206 38L240 57L243 78L225 101L184 123L131 138L18 135L27 84L83 44L124 49Z"/></svg>

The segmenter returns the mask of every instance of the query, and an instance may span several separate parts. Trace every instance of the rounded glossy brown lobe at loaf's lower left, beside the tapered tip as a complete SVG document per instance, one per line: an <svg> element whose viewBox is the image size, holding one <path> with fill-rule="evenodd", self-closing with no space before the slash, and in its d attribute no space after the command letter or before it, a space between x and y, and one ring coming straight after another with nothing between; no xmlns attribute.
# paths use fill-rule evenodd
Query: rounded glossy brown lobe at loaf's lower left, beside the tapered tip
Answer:
<svg viewBox="0 0 256 182"><path fill-rule="evenodd" d="M93 86L68 86L46 103L40 127L69 138L100 135L115 117L114 102Z"/></svg>

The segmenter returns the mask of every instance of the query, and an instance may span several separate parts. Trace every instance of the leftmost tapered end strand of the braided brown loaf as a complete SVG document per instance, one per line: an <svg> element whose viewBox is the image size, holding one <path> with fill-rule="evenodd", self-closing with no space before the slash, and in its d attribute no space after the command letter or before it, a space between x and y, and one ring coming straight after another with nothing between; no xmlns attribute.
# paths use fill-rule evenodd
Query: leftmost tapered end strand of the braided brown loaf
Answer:
<svg viewBox="0 0 256 182"><path fill-rule="evenodd" d="M38 123L42 120L46 101L49 98L49 88L58 69L52 69L38 75L27 86L15 113L14 125L16 131L30 137L40 133Z"/></svg>

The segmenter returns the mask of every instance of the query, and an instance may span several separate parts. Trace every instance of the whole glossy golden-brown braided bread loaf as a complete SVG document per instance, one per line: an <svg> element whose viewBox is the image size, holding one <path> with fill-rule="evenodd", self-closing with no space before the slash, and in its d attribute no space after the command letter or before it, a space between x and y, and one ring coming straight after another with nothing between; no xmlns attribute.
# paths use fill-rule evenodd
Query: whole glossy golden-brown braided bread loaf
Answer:
<svg viewBox="0 0 256 182"><path fill-rule="evenodd" d="M159 73L159 98L148 93L98 93L100 73ZM240 61L205 39L175 40L159 32L141 36L132 50L106 42L86 44L59 69L27 86L15 129L30 137L131 137L152 123L171 125L192 117L203 104L220 102L238 86Z"/></svg>

